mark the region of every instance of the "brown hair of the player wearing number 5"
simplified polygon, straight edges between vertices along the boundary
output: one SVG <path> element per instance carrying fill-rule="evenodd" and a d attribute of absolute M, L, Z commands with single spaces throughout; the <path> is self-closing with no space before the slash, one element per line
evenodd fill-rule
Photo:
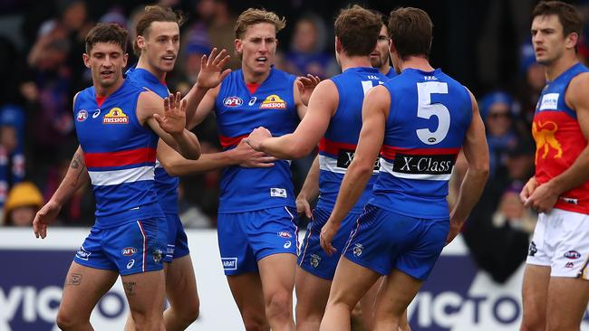
<path fill-rule="evenodd" d="M 413 7 L 397 8 L 391 12 L 387 28 L 401 59 L 411 55 L 430 58 L 433 24 L 428 13 Z"/>

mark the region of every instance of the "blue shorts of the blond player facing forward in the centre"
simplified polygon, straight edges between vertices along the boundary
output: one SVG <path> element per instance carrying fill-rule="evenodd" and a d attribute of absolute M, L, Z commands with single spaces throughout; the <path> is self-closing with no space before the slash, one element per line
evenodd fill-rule
<path fill-rule="evenodd" d="M 268 255 L 296 254 L 295 215 L 290 207 L 219 213 L 217 235 L 225 274 L 257 272 L 257 261 Z"/>

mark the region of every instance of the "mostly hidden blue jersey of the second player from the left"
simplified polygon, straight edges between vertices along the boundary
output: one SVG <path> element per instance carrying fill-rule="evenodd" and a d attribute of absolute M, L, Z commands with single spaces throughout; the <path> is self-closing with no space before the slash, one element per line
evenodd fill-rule
<path fill-rule="evenodd" d="M 141 68 L 130 68 L 127 79 L 135 85 L 152 90 L 162 99 L 169 96 L 168 86 L 159 81 L 150 71 Z M 179 178 L 168 175 L 166 170 L 156 160 L 155 188 L 158 203 L 164 213 L 178 213 L 178 185 Z"/>

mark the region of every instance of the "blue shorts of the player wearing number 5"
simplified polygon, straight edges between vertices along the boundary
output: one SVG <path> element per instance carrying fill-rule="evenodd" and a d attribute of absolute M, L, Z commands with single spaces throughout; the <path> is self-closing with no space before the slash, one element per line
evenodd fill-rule
<path fill-rule="evenodd" d="M 366 205 L 350 235 L 346 259 L 381 275 L 397 269 L 428 279 L 449 232 L 449 219 L 428 220 Z"/>

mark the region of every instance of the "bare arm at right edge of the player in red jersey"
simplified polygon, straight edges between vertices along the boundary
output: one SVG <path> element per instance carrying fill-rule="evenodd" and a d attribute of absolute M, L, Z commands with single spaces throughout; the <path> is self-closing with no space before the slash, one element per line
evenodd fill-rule
<path fill-rule="evenodd" d="M 585 140 L 589 139 L 589 74 L 576 76 L 568 86 L 565 95 L 566 104 L 575 109 L 576 118 Z M 574 144 L 574 142 L 569 142 Z M 537 186 L 534 193 L 527 199 L 526 207 L 532 206 L 538 212 L 549 212 L 558 197 L 565 192 L 589 181 L 589 145 L 577 156 L 573 165 L 560 175 L 555 176 L 545 184 Z"/>

